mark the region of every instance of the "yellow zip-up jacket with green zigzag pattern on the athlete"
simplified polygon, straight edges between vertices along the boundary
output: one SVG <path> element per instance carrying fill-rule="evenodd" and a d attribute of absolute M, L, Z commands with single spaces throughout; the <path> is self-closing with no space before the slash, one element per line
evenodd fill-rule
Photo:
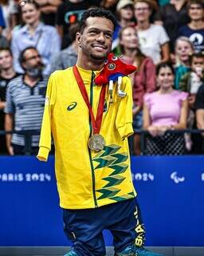
<path fill-rule="evenodd" d="M 96 118 L 102 88 L 94 84 L 98 71 L 80 67 L 78 70 Z M 47 161 L 52 133 L 62 208 L 96 208 L 135 198 L 128 150 L 128 136 L 133 133 L 132 89 L 128 77 L 123 78 L 121 89 L 127 93 L 126 97 L 119 98 L 114 86 L 112 103 L 106 90 L 100 127 L 105 146 L 104 150 L 95 152 L 88 148 L 92 124 L 73 68 L 57 70 L 49 78 L 37 158 Z"/>

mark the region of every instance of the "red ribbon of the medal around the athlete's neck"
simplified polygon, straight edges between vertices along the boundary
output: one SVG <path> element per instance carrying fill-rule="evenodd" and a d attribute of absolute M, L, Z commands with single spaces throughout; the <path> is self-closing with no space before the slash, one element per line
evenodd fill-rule
<path fill-rule="evenodd" d="M 91 122 L 92 122 L 92 130 L 93 134 L 99 134 L 100 132 L 100 126 L 103 118 L 103 112 L 104 112 L 104 100 L 105 100 L 105 91 L 106 91 L 106 86 L 102 86 L 102 89 L 100 90 L 100 98 L 99 98 L 99 105 L 97 108 L 97 114 L 96 114 L 96 119 L 94 118 L 94 114 L 92 112 L 92 106 L 88 100 L 88 94 L 86 91 L 86 88 L 84 86 L 84 82 L 80 76 L 80 72 L 77 69 L 77 66 L 73 66 L 73 74 L 77 80 L 77 84 L 80 89 L 80 93 L 82 97 L 84 98 L 84 102 L 88 106 L 89 114 L 91 117 Z"/>

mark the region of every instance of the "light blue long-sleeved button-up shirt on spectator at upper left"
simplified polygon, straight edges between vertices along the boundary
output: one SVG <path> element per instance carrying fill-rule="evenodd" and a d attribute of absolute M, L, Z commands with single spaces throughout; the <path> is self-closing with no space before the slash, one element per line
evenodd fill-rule
<path fill-rule="evenodd" d="M 34 34 L 29 34 L 28 26 L 15 30 L 11 41 L 11 50 L 14 54 L 14 70 L 24 73 L 18 58 L 26 47 L 34 46 L 41 54 L 42 62 L 45 64 L 44 74 L 49 75 L 50 63 L 53 56 L 61 49 L 61 38 L 53 26 L 39 23 Z"/>

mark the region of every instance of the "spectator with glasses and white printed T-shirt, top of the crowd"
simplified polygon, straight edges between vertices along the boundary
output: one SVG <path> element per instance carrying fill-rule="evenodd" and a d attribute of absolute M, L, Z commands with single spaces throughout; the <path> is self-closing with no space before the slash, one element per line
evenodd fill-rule
<path fill-rule="evenodd" d="M 169 38 L 163 26 L 150 23 L 153 8 L 151 0 L 135 0 L 140 49 L 143 54 L 151 57 L 155 64 L 159 64 L 170 58 Z"/>

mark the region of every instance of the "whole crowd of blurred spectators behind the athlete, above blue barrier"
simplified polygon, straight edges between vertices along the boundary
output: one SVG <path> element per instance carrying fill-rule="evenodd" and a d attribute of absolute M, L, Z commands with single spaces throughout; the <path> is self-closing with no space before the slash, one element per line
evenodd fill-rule
<path fill-rule="evenodd" d="M 138 67 L 131 74 L 141 154 L 202 154 L 204 130 L 204 0 L 0 0 L 0 154 L 25 154 L 23 132 L 37 152 L 49 74 L 77 62 L 84 10 L 102 7 L 118 21 L 112 51 Z"/>

